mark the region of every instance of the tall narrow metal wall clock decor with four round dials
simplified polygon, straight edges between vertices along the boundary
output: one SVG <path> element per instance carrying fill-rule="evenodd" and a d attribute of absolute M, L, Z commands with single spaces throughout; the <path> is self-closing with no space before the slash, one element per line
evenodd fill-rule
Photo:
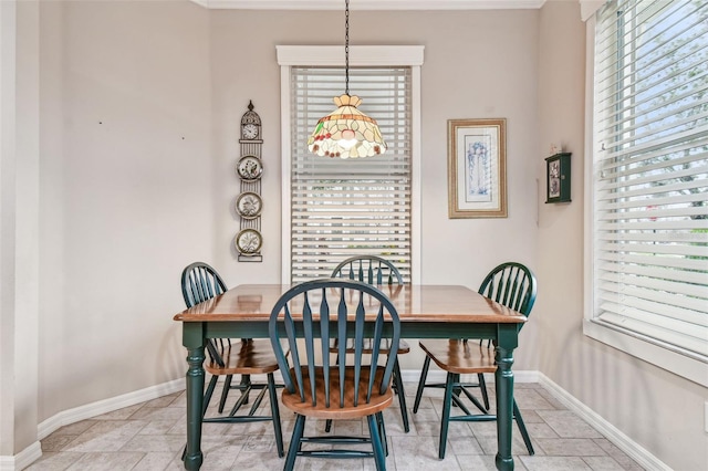
<path fill-rule="evenodd" d="M 241 117 L 241 157 L 236 165 L 236 174 L 241 179 L 241 192 L 236 198 L 236 213 L 241 219 L 240 231 L 233 239 L 239 252 L 239 262 L 262 262 L 261 247 L 261 175 L 263 163 L 261 150 L 261 118 L 253 111 L 253 102 L 249 101 L 248 112 Z"/>

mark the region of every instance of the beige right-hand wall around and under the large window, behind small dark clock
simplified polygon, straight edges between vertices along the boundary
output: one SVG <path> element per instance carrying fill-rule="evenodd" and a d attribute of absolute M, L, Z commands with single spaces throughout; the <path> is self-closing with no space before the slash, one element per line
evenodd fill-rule
<path fill-rule="evenodd" d="M 541 207 L 538 369 L 671 469 L 705 470 L 708 390 L 582 333 L 583 167 L 590 157 L 583 151 L 585 30 L 579 11 L 577 4 L 546 2 L 539 22 L 539 155 L 552 142 L 573 153 L 573 201 Z M 544 181 L 541 158 L 537 174 Z"/>

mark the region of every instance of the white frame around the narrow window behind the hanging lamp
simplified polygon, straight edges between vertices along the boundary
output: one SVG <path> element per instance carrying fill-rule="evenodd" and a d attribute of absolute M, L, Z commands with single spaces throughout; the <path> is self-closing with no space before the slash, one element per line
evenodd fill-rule
<path fill-rule="evenodd" d="M 281 116 L 281 282 L 291 280 L 291 92 L 292 66 L 344 66 L 340 45 L 277 45 L 280 65 Z M 423 45 L 350 46 L 350 66 L 409 66 L 412 100 L 412 195 L 410 195 L 410 273 L 412 283 L 420 283 L 420 66 Z"/>

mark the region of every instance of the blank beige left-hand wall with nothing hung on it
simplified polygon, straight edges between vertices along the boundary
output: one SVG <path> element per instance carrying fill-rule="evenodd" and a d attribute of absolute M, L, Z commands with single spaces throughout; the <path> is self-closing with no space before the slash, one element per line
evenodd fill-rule
<path fill-rule="evenodd" d="M 212 258 L 208 12 L 42 2 L 40 420 L 179 378 Z"/>

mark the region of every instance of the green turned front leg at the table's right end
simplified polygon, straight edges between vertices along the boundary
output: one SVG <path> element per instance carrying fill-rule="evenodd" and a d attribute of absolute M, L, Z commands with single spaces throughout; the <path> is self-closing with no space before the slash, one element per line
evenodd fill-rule
<path fill-rule="evenodd" d="M 497 386 L 497 457 L 494 462 L 498 470 L 512 471 L 513 458 L 511 457 L 511 430 L 513 426 L 513 348 L 518 342 L 516 326 L 499 326 L 499 339 L 494 359 L 497 371 L 494 380 Z"/>

